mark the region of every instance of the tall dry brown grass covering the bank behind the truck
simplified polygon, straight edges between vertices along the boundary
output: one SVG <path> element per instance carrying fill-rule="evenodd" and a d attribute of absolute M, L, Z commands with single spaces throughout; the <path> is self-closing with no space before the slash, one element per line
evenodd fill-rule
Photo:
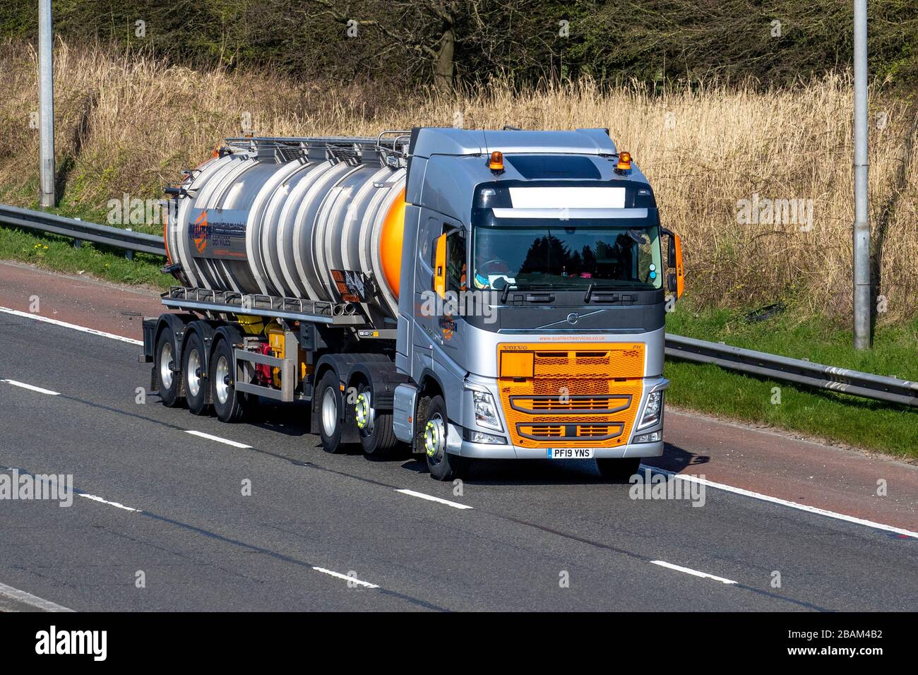
<path fill-rule="evenodd" d="M 0 46 L 0 67 L 7 85 L 0 196 L 25 205 L 37 185 L 38 136 L 28 128 L 37 100 L 34 51 Z M 298 136 L 452 125 L 456 111 L 469 128 L 608 127 L 649 175 L 666 225 L 683 235 L 697 303 L 782 299 L 828 316 L 850 312 L 852 92 L 844 76 L 768 93 L 711 86 L 650 96 L 589 82 L 514 93 L 498 83 L 445 98 L 380 84 L 167 68 L 59 43 L 56 78 L 59 163 L 72 165 L 65 203 L 77 210 L 102 211 L 125 192 L 160 196 L 181 169 L 240 133 L 243 112 L 259 133 Z M 918 129 L 915 108 L 875 93 L 871 114 L 880 111 L 887 125 L 871 129 L 871 226 L 889 309 L 880 321 L 896 321 L 918 309 L 918 165 L 906 162 L 918 151 Z M 812 231 L 739 223 L 737 200 L 754 193 L 812 199 Z"/>

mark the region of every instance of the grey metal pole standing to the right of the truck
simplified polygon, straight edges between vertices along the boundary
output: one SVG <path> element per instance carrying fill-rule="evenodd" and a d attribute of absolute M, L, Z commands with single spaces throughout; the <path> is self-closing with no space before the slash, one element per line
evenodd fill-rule
<path fill-rule="evenodd" d="M 855 0 L 855 349 L 870 348 L 870 223 L 867 204 L 867 0 Z"/>

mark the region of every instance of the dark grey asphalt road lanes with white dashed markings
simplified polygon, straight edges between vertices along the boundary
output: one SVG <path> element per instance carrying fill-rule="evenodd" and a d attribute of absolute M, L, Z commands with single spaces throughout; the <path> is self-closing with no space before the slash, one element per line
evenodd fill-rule
<path fill-rule="evenodd" d="M 0 500 L 0 582 L 73 610 L 918 605 L 913 537 L 721 489 L 633 500 L 591 462 L 488 463 L 454 494 L 409 456 L 324 453 L 303 407 L 228 425 L 138 402 L 129 343 L 0 314 L 0 344 L 0 473 L 82 493 Z"/>

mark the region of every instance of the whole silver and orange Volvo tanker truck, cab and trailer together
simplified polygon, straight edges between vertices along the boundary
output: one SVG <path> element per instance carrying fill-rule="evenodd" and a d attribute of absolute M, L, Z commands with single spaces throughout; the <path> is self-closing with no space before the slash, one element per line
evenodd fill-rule
<path fill-rule="evenodd" d="M 166 192 L 177 311 L 142 355 L 164 405 L 308 401 L 326 451 L 407 444 L 442 480 L 663 452 L 681 245 L 608 130 L 229 139 Z"/>

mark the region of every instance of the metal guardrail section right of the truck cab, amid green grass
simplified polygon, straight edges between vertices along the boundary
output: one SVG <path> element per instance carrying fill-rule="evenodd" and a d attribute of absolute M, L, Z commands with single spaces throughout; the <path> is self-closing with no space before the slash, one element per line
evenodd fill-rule
<path fill-rule="evenodd" d="M 666 335 L 666 355 L 769 379 L 918 407 L 918 382 L 896 377 L 823 366 L 788 356 L 672 334 Z"/>

